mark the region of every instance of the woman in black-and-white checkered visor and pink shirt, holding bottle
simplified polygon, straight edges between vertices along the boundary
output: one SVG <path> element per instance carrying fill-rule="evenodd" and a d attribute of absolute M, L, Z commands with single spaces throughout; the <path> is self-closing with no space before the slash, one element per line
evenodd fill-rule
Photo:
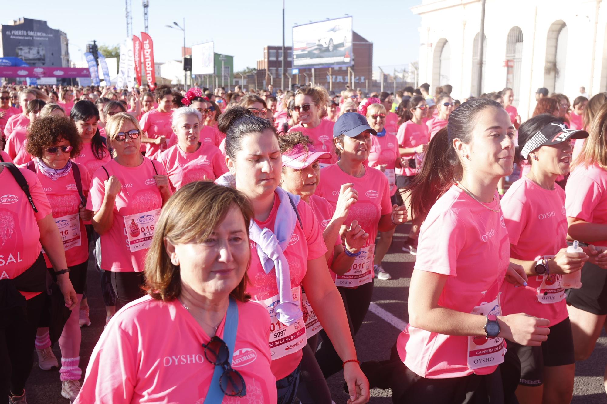
<path fill-rule="evenodd" d="M 521 362 L 521 404 L 568 404 L 573 396 L 574 345 L 563 276 L 580 271 L 588 255 L 567 252 L 565 191 L 555 181 L 569 173 L 571 138 L 585 137 L 588 132 L 568 130 L 549 114 L 534 116 L 518 129 L 517 152 L 531 170 L 510 186 L 501 207 L 510 262 L 523 266 L 528 280 L 522 288 L 504 283 L 500 301 L 503 314 L 526 312 L 550 321 L 550 336 L 541 346 L 508 342 Z"/>

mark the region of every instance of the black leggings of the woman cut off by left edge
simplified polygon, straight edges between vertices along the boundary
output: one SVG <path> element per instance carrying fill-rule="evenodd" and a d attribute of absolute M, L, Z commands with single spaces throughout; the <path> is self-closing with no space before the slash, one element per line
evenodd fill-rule
<path fill-rule="evenodd" d="M 27 301 L 27 317 L 12 315 L 2 319 L 0 330 L 0 402 L 12 392 L 20 396 L 34 363 L 34 343 L 38 322 L 47 294 L 42 292 Z"/>

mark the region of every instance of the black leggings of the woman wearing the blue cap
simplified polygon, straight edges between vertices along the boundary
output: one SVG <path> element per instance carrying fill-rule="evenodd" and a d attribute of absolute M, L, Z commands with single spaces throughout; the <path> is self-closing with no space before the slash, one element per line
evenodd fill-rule
<path fill-rule="evenodd" d="M 337 288 L 337 290 L 341 294 L 342 300 L 344 300 L 345 313 L 348 317 L 352 338 L 354 338 L 354 335 L 361 328 L 365 315 L 367 315 L 371 297 L 373 296 L 373 281 L 365 283 L 356 289 Z M 333 348 L 333 344 L 329 340 L 327 333 L 323 330 L 319 334 L 322 341 L 316 351 L 316 360 L 325 378 L 327 378 L 339 372 L 342 369 L 343 362 L 339 355 L 337 355 L 335 348 Z"/>

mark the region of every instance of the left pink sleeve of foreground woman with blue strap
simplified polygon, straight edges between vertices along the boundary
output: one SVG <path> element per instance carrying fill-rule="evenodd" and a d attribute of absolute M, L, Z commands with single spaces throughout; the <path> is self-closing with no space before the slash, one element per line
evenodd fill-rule
<path fill-rule="evenodd" d="M 109 323 L 90 355 L 84 383 L 76 403 L 130 403 L 135 384 L 137 348 L 133 335 L 121 329 L 120 322 Z"/>

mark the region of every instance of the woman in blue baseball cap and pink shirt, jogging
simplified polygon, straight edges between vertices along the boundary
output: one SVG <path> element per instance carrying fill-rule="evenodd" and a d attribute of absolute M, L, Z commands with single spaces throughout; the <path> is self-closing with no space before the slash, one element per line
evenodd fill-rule
<path fill-rule="evenodd" d="M 316 189 L 316 195 L 324 197 L 332 206 L 337 206 L 344 184 L 354 184 L 353 189 L 358 192 L 358 200 L 348 210 L 344 224 L 350 226 L 356 220 L 369 238 L 356 254 L 351 268 L 335 280 L 354 334 L 361 328 L 373 294 L 373 255 L 378 231 L 392 231 L 407 220 L 405 207 L 390 201 L 390 187 L 385 175 L 365 163 L 371 149 L 371 136 L 375 134 L 375 129 L 360 113 L 340 116 L 333 128 L 339 161 L 321 170 L 322 180 Z M 316 359 L 325 377 L 339 371 L 339 357 L 333 347 L 337 348 L 323 338 L 323 345 L 317 351 Z"/>

